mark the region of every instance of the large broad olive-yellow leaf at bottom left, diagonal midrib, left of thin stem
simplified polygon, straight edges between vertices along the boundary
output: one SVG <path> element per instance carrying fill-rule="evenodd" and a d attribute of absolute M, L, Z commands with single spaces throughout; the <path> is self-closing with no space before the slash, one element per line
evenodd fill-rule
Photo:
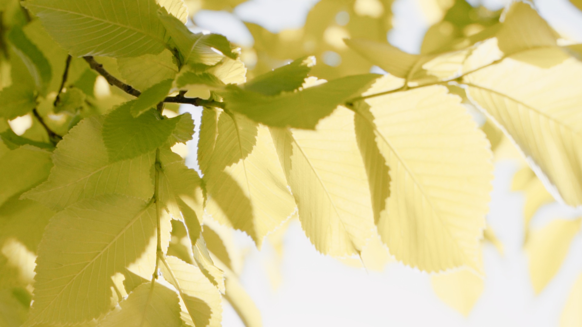
<path fill-rule="evenodd" d="M 155 243 L 155 228 L 153 202 L 122 195 L 88 198 L 56 214 L 38 246 L 31 321 L 77 324 L 105 314 L 111 276 Z"/>

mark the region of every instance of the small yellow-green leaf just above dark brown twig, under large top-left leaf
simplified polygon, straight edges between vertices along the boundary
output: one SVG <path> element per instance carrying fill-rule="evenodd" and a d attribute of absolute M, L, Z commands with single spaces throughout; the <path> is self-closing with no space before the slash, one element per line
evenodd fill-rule
<path fill-rule="evenodd" d="M 145 90 L 155 84 L 174 79 L 178 66 L 174 62 L 172 52 L 165 49 L 157 55 L 142 55 L 135 58 L 119 58 L 118 70 L 127 84 Z"/>

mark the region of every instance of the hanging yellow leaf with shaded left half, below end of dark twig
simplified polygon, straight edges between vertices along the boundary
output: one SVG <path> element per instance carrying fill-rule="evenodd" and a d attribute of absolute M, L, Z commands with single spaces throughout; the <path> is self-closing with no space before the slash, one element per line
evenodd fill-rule
<path fill-rule="evenodd" d="M 207 109 L 203 115 L 217 119 L 215 127 L 203 118 L 200 132 L 198 163 L 207 191 L 205 210 L 261 246 L 264 236 L 295 209 L 269 130 L 238 113 Z M 204 143 L 215 143 L 214 149 L 207 150 Z"/>

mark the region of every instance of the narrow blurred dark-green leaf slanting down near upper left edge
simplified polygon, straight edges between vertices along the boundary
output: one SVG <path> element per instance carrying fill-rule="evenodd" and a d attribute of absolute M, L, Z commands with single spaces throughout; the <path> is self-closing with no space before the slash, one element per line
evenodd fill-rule
<path fill-rule="evenodd" d="M 29 69 L 38 93 L 46 94 L 52 77 L 51 64 L 47 61 L 47 58 L 20 29 L 10 29 L 8 40 L 14 46 L 16 54 L 20 56 L 24 65 Z"/>

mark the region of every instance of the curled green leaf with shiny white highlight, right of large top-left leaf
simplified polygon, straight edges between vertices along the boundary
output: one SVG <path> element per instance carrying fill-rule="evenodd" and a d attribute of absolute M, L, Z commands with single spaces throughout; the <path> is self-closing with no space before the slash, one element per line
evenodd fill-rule
<path fill-rule="evenodd" d="M 171 15 L 164 15 L 164 13 L 159 13 L 159 19 L 168 30 L 169 35 L 171 35 L 172 42 L 179 51 L 182 65 L 203 64 L 214 66 L 224 56 L 236 59 L 237 55 L 232 52 L 230 42 L 223 35 L 214 33 L 194 34 L 180 20 Z"/>

